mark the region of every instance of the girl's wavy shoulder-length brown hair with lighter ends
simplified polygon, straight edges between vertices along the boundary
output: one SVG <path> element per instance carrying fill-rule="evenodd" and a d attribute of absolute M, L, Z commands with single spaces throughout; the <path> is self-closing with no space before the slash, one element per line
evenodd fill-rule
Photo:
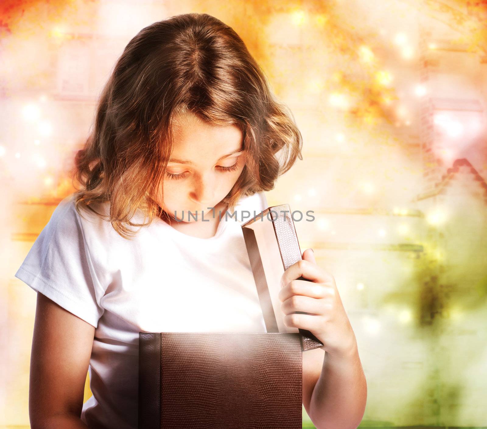
<path fill-rule="evenodd" d="M 75 156 L 78 213 L 83 205 L 102 216 L 90 205 L 109 202 L 109 220 L 127 239 L 127 224 L 150 224 L 161 210 L 156 196 L 172 149 L 171 124 L 182 112 L 243 131 L 247 162 L 224 199 L 230 211 L 241 196 L 273 189 L 302 159 L 294 117 L 243 40 L 210 15 L 176 15 L 133 37 L 103 88 L 94 128 Z M 137 209 L 148 223 L 131 222 Z"/>

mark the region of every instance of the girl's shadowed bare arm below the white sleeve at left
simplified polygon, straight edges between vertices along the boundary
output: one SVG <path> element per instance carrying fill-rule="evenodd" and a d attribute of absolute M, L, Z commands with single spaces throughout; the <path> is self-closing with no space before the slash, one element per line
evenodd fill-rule
<path fill-rule="evenodd" d="M 94 330 L 37 293 L 29 380 L 32 429 L 88 429 L 80 417 Z"/>

